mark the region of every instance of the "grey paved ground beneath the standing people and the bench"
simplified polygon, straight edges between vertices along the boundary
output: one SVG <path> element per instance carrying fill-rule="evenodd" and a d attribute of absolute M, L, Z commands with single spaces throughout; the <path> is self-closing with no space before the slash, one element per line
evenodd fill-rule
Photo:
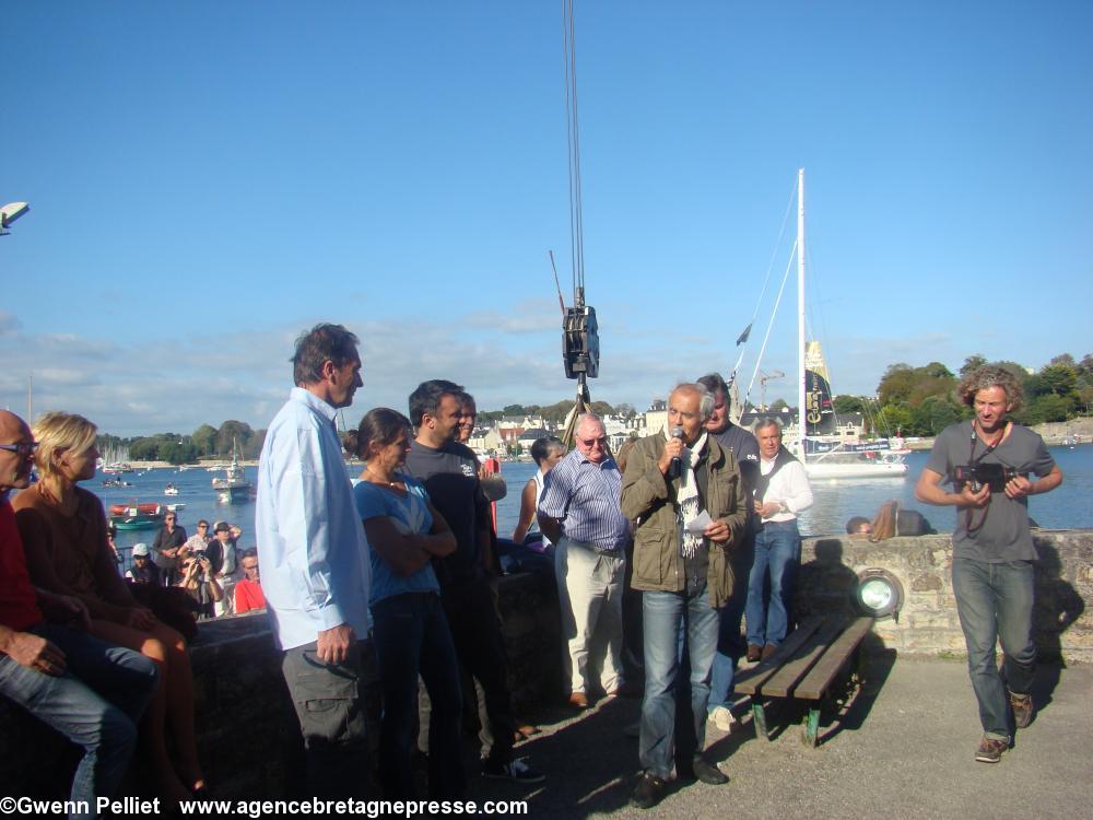
<path fill-rule="evenodd" d="M 636 700 L 602 702 L 574 717 L 539 715 L 542 735 L 519 747 L 549 773 L 539 787 L 472 780 L 475 800 L 519 799 L 531 818 L 1089 818 L 1093 817 L 1093 667 L 1042 667 L 1037 714 L 1001 763 L 976 763 L 979 724 L 962 661 L 875 656 L 866 687 L 821 745 L 788 726 L 759 739 L 745 715 L 730 735 L 710 726 L 707 745 L 731 781 L 675 788 L 658 807 L 628 806 L 637 741 L 623 728 Z M 772 726 L 777 724 L 769 714 Z"/>

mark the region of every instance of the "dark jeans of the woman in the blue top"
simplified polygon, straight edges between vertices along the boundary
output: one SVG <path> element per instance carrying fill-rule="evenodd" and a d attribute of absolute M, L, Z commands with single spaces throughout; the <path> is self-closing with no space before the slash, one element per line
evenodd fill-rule
<path fill-rule="evenodd" d="M 384 716 L 379 728 L 379 782 L 384 797 L 413 797 L 411 752 L 418 711 L 418 676 L 428 691 L 428 795 L 459 799 L 463 775 L 459 661 L 448 619 L 436 593 L 404 593 L 372 607 Z"/>

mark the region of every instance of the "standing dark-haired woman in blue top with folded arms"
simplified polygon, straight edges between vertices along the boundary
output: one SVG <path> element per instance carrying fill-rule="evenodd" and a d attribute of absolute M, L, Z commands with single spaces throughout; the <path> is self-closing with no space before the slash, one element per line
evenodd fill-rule
<path fill-rule="evenodd" d="M 418 676 L 432 700 L 428 793 L 459 799 L 466 789 L 460 728 L 459 663 L 440 606 L 433 557 L 449 555 L 456 539 L 430 503 L 425 488 L 399 470 L 410 452 L 410 420 L 376 408 L 345 436 L 364 460 L 353 489 L 372 555 L 369 601 L 384 695 L 379 782 L 387 799 L 412 797 L 411 750 Z"/>

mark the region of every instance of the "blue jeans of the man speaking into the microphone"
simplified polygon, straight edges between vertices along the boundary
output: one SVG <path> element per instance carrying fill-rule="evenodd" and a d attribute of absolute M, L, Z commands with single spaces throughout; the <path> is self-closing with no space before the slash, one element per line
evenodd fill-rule
<path fill-rule="evenodd" d="M 642 596 L 645 631 L 645 698 L 642 701 L 642 766 L 667 777 L 675 753 L 675 677 L 680 643 L 686 631 L 691 659 L 691 713 L 696 749 L 706 739 L 706 702 L 717 651 L 717 610 L 709 604 L 706 585 L 691 594 L 646 591 Z"/>

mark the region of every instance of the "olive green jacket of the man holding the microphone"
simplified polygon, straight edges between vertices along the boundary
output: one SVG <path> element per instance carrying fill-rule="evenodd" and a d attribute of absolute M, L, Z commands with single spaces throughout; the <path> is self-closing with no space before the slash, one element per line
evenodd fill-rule
<path fill-rule="evenodd" d="M 656 433 L 642 438 L 631 449 L 622 480 L 622 512 L 631 520 L 637 520 L 634 589 L 679 593 L 686 584 L 675 506 L 680 480 L 668 481 L 657 465 L 665 444 L 663 434 Z M 706 576 L 709 601 L 720 607 L 732 594 L 732 566 L 728 553 L 743 540 L 747 497 L 736 456 L 712 435 L 706 437 L 705 462 L 709 465 L 709 480 L 703 500 L 705 509 L 710 518 L 724 520 L 732 535 L 726 543 L 706 541 L 709 548 L 709 572 Z"/>

